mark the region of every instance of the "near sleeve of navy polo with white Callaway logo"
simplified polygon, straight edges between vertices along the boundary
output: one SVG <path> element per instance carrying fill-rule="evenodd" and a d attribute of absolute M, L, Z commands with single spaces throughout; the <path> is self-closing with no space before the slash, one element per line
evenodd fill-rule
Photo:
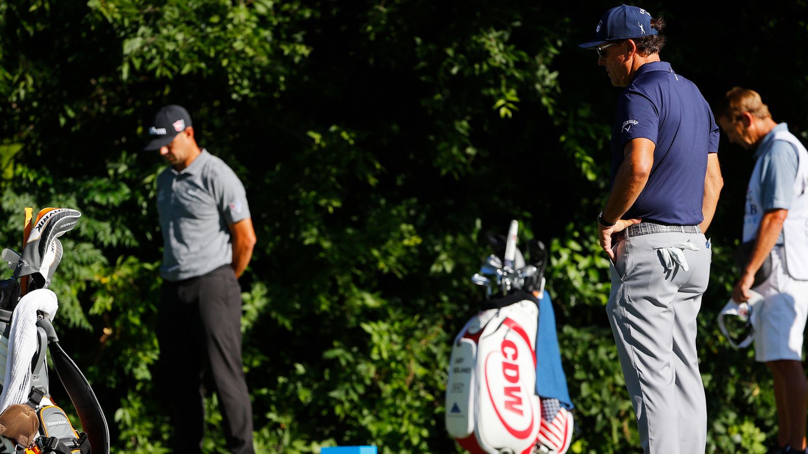
<path fill-rule="evenodd" d="M 654 103 L 636 90 L 625 90 L 617 102 L 617 127 L 620 129 L 620 148 L 626 142 L 645 138 L 654 144 L 659 134 L 659 111 Z"/>

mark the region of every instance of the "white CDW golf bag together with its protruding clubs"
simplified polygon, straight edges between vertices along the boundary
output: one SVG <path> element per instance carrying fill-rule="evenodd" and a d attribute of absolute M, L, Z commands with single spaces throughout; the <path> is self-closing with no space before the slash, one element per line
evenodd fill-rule
<path fill-rule="evenodd" d="M 490 255 L 473 275 L 487 299 L 455 338 L 449 359 L 446 429 L 472 454 L 532 453 L 541 427 L 534 351 L 539 309 L 531 292 L 544 291 L 546 254 L 526 265 L 516 249 L 517 225 L 511 221 L 504 253 Z M 541 242 L 536 246 L 545 252 Z"/>

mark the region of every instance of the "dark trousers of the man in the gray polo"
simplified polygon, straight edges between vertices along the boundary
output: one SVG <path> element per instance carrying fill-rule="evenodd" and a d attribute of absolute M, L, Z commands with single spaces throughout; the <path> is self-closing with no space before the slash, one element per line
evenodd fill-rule
<path fill-rule="evenodd" d="M 171 407 L 174 452 L 202 452 L 204 382 L 209 373 L 219 397 L 227 448 L 252 454 L 252 408 L 242 367 L 242 297 L 233 268 L 165 281 L 157 335 L 163 389 Z"/>

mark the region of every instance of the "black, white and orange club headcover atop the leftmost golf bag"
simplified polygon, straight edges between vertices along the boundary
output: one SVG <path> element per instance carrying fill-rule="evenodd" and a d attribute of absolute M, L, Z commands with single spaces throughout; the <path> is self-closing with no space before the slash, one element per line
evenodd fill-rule
<path fill-rule="evenodd" d="M 40 211 L 23 248 L 14 278 L 29 276 L 27 291 L 47 288 L 61 262 L 61 242 L 57 238 L 72 230 L 81 212 L 70 208 Z"/>

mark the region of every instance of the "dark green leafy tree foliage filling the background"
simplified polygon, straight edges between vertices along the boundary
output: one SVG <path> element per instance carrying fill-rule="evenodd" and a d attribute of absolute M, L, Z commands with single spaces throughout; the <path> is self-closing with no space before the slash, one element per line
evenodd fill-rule
<path fill-rule="evenodd" d="M 259 244 L 242 325 L 259 452 L 458 452 L 443 427 L 449 343 L 482 297 L 468 281 L 490 253 L 482 233 L 512 218 L 523 240 L 552 246 L 578 409 L 572 452 L 633 452 L 594 240 L 619 90 L 576 46 L 609 6 L 0 2 L 0 238 L 19 248 L 26 206 L 82 211 L 53 283 L 57 329 L 95 385 L 115 452 L 167 452 L 159 385 L 182 385 L 154 374 L 164 164 L 141 151 L 166 103 L 191 111 L 200 145 L 250 198 Z M 666 16 L 663 58 L 709 102 L 755 88 L 776 120 L 808 131 L 808 68 L 784 45 L 808 37 L 806 2 L 643 6 Z M 723 143 L 698 341 L 708 447 L 764 452 L 776 430 L 771 378 L 714 323 L 751 170 Z M 223 452 L 215 397 L 206 405 L 206 448 Z"/>

